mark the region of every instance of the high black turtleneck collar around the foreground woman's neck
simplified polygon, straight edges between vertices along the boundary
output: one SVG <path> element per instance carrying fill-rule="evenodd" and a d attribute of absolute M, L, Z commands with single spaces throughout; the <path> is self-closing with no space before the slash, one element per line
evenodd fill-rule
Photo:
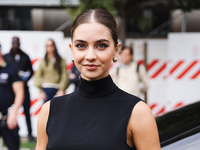
<path fill-rule="evenodd" d="M 85 97 L 100 97 L 108 95 L 116 89 L 117 86 L 109 75 L 103 79 L 95 81 L 87 81 L 81 78 L 78 93 Z"/>

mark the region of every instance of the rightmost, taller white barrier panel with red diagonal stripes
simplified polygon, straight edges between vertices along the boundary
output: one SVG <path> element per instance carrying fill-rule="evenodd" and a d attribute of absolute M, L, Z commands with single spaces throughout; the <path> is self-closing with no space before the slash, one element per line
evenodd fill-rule
<path fill-rule="evenodd" d="M 200 100 L 200 34 L 169 34 L 167 103 Z"/>

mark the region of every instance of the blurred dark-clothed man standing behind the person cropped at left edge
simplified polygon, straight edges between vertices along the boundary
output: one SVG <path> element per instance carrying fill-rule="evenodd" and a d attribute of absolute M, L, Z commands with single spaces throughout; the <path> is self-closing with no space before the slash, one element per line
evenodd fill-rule
<path fill-rule="evenodd" d="M 12 38 L 12 48 L 8 54 L 5 55 L 5 60 L 8 63 L 16 65 L 18 67 L 18 74 L 24 82 L 24 113 L 26 116 L 26 124 L 28 129 L 28 138 L 30 141 L 34 141 L 32 136 L 32 126 L 30 119 L 30 93 L 29 87 L 27 85 L 29 79 L 33 76 L 33 69 L 29 56 L 20 49 L 20 39 L 19 37 Z"/>

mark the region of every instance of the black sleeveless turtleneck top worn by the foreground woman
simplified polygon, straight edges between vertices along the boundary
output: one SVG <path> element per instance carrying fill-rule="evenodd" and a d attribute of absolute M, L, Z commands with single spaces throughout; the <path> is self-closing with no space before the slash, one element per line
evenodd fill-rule
<path fill-rule="evenodd" d="M 127 125 L 140 99 L 120 90 L 111 77 L 86 81 L 50 102 L 47 150 L 130 150 Z"/>

